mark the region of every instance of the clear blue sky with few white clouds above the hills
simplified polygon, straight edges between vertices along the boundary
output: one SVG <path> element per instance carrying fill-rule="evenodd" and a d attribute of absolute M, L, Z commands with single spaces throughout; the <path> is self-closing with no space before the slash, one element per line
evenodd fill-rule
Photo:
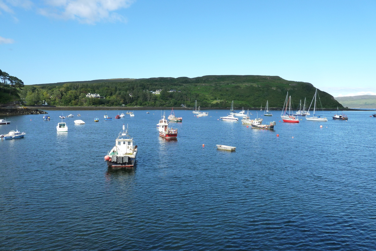
<path fill-rule="evenodd" d="M 0 0 L 0 69 L 26 85 L 271 75 L 376 95 L 374 0 Z"/>

